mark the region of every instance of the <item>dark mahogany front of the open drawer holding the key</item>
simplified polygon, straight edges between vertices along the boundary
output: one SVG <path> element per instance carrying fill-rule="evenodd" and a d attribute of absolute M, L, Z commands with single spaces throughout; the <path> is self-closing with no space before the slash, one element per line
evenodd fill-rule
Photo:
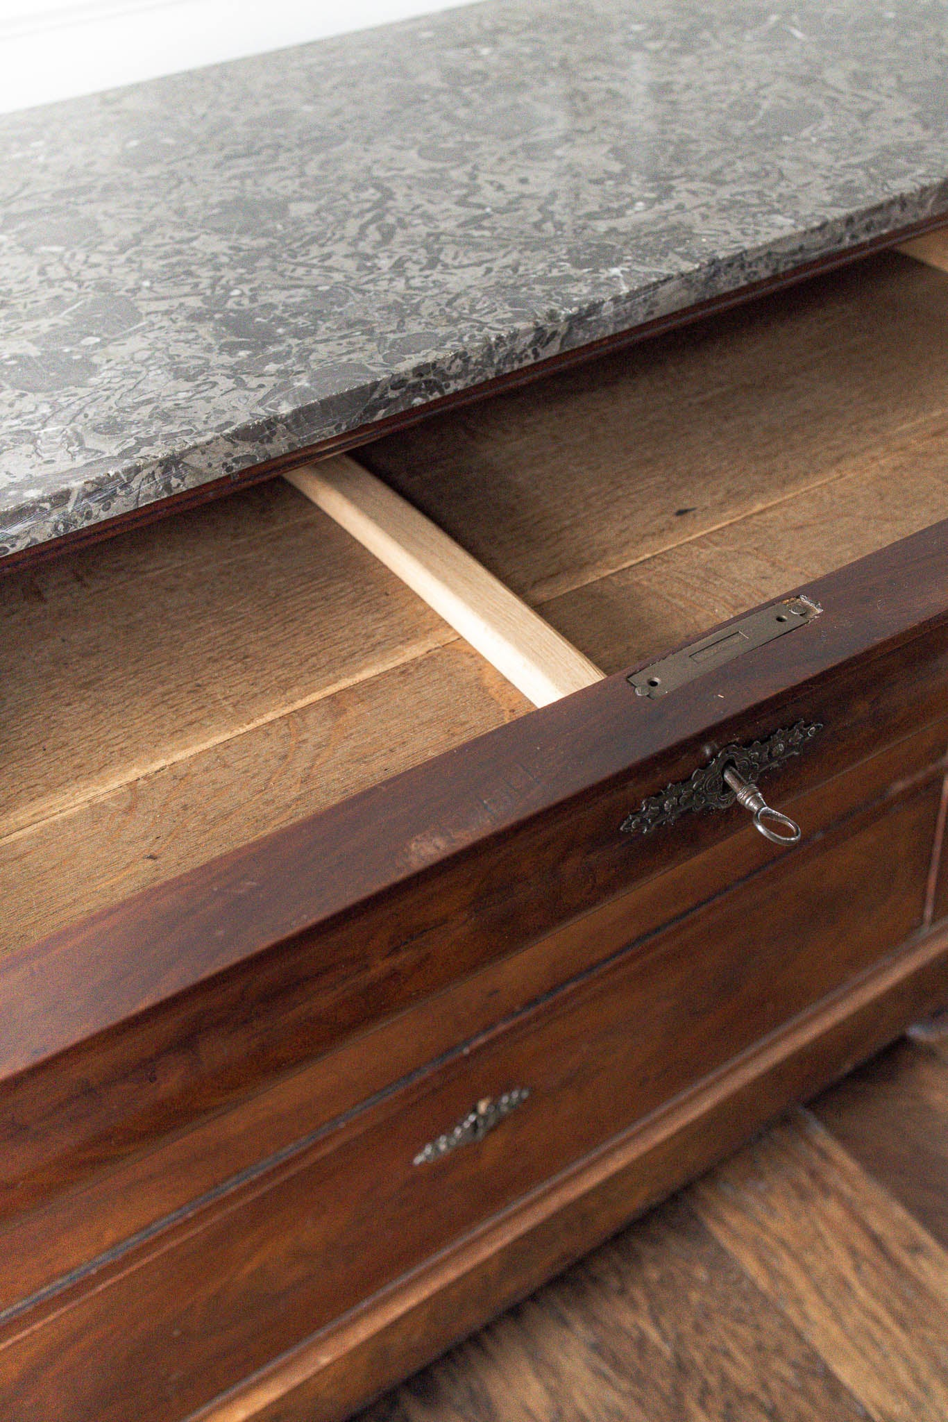
<path fill-rule="evenodd" d="M 816 594 L 827 599 L 822 584 Z M 863 604 L 878 602 L 871 580 L 861 597 Z M 41 1065 L 9 1069 L 0 1086 L 3 1119 L 28 1121 L 31 1129 L 4 1132 L 0 1119 L 0 1214 L 114 1165 L 165 1130 L 236 1105 L 281 1072 L 709 849 L 721 862 L 733 850 L 738 866 L 762 846 L 765 855 L 783 853 L 758 845 L 735 808 L 691 815 L 674 836 L 637 843 L 618 825 L 645 795 L 702 764 L 709 732 L 675 738 L 702 718 L 711 721 L 715 708 L 723 715 L 713 728 L 719 745 L 766 737 L 797 720 L 823 722 L 817 742 L 765 781 L 787 808 L 867 752 L 944 717 L 948 621 L 878 657 L 856 658 L 817 684 L 807 675 L 829 654 L 813 641 L 809 660 L 782 667 L 777 677 L 804 685 L 782 693 L 776 704 L 773 695 L 762 697 L 752 714 L 731 714 L 766 685 L 759 665 L 750 675 L 755 658 L 810 631 L 816 637 L 817 629 L 824 637 L 829 620 L 827 610 L 793 637 L 738 658 L 728 680 L 709 680 L 701 695 L 695 684 L 696 711 L 686 697 L 678 702 L 679 694 L 645 701 L 644 711 L 645 698 L 624 678 L 610 678 L 470 742 L 448 762 L 387 782 L 378 795 L 345 802 L 320 818 L 316 835 L 310 825 L 294 826 L 249 846 L 233 865 L 220 862 L 193 882 L 165 886 L 146 906 L 129 900 L 75 939 L 50 940 L 48 951 L 40 946 L 34 956 L 0 963 L 0 1007 L 16 1004 L 6 1017 L 0 1012 L 0 1022 L 7 1021 L 9 1047 L 21 1055 L 30 1041 L 51 1049 L 60 1027 L 85 1031 L 102 1004 L 131 1014 Z M 847 623 L 839 640 L 850 636 Z M 547 718 L 561 722 L 553 738 L 542 734 Z M 674 741 L 674 749 L 635 764 L 652 735 L 655 744 Z M 431 799 L 416 793 L 422 782 Z M 537 799 L 566 785 L 570 793 L 560 803 L 537 811 Z M 495 833 L 495 823 L 515 809 L 523 812 L 519 823 Z M 806 830 L 823 826 L 823 815 L 817 808 Z M 749 855 L 740 848 L 748 843 Z M 452 853 L 455 846 L 463 852 Z M 426 865 L 429 852 L 441 849 L 443 862 Z M 347 896 L 362 892 L 381 860 L 401 866 L 398 883 L 345 909 Z M 684 886 L 679 912 L 704 892 Z M 301 897 L 316 897 L 324 909 L 311 930 L 270 943 L 229 971 L 210 970 L 208 954 L 219 944 L 230 951 L 249 941 L 263 931 L 262 919 L 284 920 Z M 178 991 L 179 973 L 202 963 L 209 975 Z M 145 1012 L 152 971 L 166 998 Z"/>

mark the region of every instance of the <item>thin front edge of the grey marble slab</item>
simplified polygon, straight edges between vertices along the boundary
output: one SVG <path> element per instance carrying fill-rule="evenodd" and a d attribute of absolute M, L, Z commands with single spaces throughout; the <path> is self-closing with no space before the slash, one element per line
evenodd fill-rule
<path fill-rule="evenodd" d="M 941 215 L 948 218 L 948 178 L 861 210 L 824 218 L 777 240 L 713 256 L 689 272 L 672 273 L 632 292 L 566 310 L 549 321 L 499 331 L 476 347 L 426 353 L 422 360 L 394 367 L 387 377 L 280 415 L 217 429 L 203 441 L 156 459 L 111 464 L 95 475 L 84 475 L 80 469 L 71 481 L 64 478 L 61 491 L 41 512 L 36 502 L 4 512 L 0 519 L 0 563 L 14 553 L 119 519 L 220 478 L 229 476 L 237 486 L 242 474 L 271 459 L 340 435 L 368 431 L 387 417 L 419 410 L 445 395 L 476 390 L 560 353 L 631 334 L 648 321 L 738 293 L 762 280 L 789 276 L 810 262 L 908 232 Z M 348 414 L 340 415 L 338 407 Z M 246 448 L 236 448 L 239 445 Z"/>

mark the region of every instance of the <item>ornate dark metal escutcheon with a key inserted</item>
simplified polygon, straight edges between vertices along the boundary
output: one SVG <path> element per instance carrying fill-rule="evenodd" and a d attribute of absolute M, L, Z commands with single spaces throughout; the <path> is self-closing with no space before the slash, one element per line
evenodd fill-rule
<path fill-rule="evenodd" d="M 799 755 L 823 729 L 819 721 L 797 721 L 749 745 L 725 745 L 708 765 L 699 766 L 686 781 L 667 785 L 650 795 L 623 820 L 624 835 L 651 835 L 662 825 L 674 825 L 682 815 L 701 809 L 728 809 L 735 802 L 753 815 L 755 828 L 776 845 L 796 845 L 800 826 L 780 811 L 772 809 L 758 789 L 759 775 Z"/>

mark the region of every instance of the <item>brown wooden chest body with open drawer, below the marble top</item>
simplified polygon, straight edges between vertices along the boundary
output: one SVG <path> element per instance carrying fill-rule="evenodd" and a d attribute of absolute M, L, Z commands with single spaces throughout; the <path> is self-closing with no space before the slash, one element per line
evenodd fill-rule
<path fill-rule="evenodd" d="M 526 691 L 284 482 L 0 583 L 11 1415 L 343 1416 L 948 995 L 947 328 L 873 257 L 362 449 Z"/>

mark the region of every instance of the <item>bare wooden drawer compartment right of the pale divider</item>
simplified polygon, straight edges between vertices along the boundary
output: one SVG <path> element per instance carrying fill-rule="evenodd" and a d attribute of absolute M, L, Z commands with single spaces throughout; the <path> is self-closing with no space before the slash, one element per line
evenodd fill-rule
<path fill-rule="evenodd" d="M 947 331 L 887 253 L 360 458 L 621 671 L 948 516 Z"/>

